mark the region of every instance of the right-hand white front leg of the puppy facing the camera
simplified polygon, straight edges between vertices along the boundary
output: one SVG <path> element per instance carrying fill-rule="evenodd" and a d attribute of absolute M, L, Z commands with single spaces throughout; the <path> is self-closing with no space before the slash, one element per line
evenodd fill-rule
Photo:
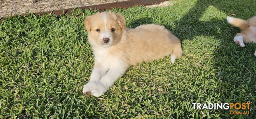
<path fill-rule="evenodd" d="M 124 65 L 111 66 L 107 74 L 102 76 L 98 82 L 92 82 L 90 87 L 90 92 L 92 95 L 95 97 L 102 96 L 102 94 L 104 94 L 108 88 L 113 85 L 114 81 L 122 76 L 127 69 L 128 66 Z"/>

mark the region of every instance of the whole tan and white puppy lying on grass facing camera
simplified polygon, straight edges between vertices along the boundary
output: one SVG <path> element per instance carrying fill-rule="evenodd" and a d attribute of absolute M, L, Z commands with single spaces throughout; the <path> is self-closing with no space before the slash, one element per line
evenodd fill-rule
<path fill-rule="evenodd" d="M 131 65 L 170 55 L 171 62 L 181 57 L 180 40 L 162 25 L 125 27 L 124 16 L 98 12 L 84 20 L 88 41 L 94 54 L 94 69 L 83 93 L 99 97 Z"/>

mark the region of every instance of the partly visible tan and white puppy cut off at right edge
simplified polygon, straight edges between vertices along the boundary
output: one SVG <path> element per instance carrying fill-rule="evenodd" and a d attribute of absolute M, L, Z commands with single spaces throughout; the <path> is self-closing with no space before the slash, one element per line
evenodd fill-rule
<path fill-rule="evenodd" d="M 227 21 L 231 25 L 241 29 L 241 32 L 237 33 L 234 37 L 236 44 L 244 47 L 244 43 L 256 43 L 256 16 L 248 20 L 227 17 Z M 256 56 L 256 51 L 254 55 Z"/>

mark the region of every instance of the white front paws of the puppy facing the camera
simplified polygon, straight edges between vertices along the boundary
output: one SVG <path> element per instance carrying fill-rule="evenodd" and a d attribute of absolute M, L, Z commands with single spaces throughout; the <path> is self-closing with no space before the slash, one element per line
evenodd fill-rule
<path fill-rule="evenodd" d="M 100 82 L 88 82 L 88 84 L 84 85 L 83 93 L 91 92 L 93 96 L 100 97 L 102 96 L 108 89 L 103 86 Z"/>

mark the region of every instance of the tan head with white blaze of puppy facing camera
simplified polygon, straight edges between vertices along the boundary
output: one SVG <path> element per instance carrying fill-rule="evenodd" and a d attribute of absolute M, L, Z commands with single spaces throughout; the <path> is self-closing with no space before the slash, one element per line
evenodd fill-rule
<path fill-rule="evenodd" d="M 90 42 L 102 47 L 110 47 L 118 43 L 125 29 L 124 16 L 114 12 L 98 12 L 86 17 L 84 27 Z"/>

